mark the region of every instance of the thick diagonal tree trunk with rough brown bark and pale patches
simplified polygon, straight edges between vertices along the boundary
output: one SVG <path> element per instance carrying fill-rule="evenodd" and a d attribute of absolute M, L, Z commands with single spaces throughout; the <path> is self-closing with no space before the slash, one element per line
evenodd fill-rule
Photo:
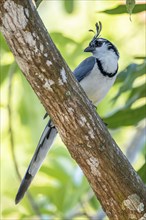
<path fill-rule="evenodd" d="M 144 220 L 143 182 L 72 76 L 31 0 L 1 0 L 0 13 L 3 35 L 20 69 L 108 217 Z"/>

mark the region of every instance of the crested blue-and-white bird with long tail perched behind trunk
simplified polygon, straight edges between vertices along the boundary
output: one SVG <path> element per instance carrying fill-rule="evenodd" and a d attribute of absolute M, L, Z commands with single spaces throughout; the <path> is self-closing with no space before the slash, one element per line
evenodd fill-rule
<path fill-rule="evenodd" d="M 114 84 L 118 72 L 119 52 L 116 46 L 105 38 L 99 36 L 102 30 L 102 23 L 95 24 L 96 33 L 84 52 L 92 53 L 83 60 L 73 71 L 74 77 L 80 83 L 87 97 L 97 106 L 105 97 Z M 48 115 L 46 113 L 45 117 Z M 15 204 L 24 197 L 36 173 L 40 169 L 50 147 L 57 136 L 57 129 L 50 119 L 42 133 L 32 160 L 20 184 L 15 198 Z"/>

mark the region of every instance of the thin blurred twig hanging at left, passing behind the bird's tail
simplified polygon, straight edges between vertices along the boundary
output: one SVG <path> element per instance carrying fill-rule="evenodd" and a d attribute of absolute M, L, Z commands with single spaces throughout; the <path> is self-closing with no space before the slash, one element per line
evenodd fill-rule
<path fill-rule="evenodd" d="M 15 149 L 14 149 L 15 144 L 14 144 L 14 135 L 13 135 L 13 126 L 12 126 L 12 81 L 13 81 L 15 70 L 16 70 L 16 63 L 14 62 L 9 69 L 8 105 L 7 105 L 7 108 L 8 108 L 8 129 L 9 129 L 9 135 L 10 135 L 12 161 L 14 163 L 14 168 L 15 168 L 17 177 L 18 177 L 19 181 L 21 182 L 22 178 L 21 178 L 21 175 L 19 172 L 18 163 L 17 163 L 16 156 L 15 156 Z M 37 204 L 35 203 L 32 195 L 29 192 L 27 193 L 27 197 L 28 197 L 28 200 L 29 200 L 34 212 L 41 219 L 41 213 L 39 211 L 39 208 L 38 208 Z"/>

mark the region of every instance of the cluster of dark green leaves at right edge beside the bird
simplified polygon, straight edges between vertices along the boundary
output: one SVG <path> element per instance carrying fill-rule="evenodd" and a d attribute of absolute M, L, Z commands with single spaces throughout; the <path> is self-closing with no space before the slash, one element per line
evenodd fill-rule
<path fill-rule="evenodd" d="M 132 108 L 132 106 L 146 95 L 146 86 L 144 81 L 144 74 L 146 70 L 146 62 L 142 64 L 132 63 L 125 70 L 119 73 L 116 83 L 120 84 L 119 91 L 113 98 L 113 102 L 123 95 L 128 93 L 125 104 L 118 108 L 116 112 L 111 113 L 110 116 L 105 118 L 110 128 L 118 128 L 121 126 L 137 125 L 145 118 L 146 104 L 145 101 L 142 105 Z M 135 81 L 142 77 L 142 84 L 134 87 Z M 124 83 L 123 83 L 124 81 Z"/>

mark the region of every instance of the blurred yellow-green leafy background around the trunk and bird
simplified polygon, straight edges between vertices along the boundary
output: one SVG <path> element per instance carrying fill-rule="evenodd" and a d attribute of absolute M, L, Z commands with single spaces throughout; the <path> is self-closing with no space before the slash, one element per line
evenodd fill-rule
<path fill-rule="evenodd" d="M 145 4 L 132 22 L 123 1 L 42 1 L 38 7 L 48 32 L 73 70 L 89 54 L 88 32 L 101 21 L 101 36 L 119 49 L 119 75 L 98 106 L 119 147 L 146 182 Z M 34 179 L 30 194 L 14 199 L 41 132 L 45 110 L 15 63 L 2 34 L 1 45 L 1 219 L 107 219 L 82 171 L 58 137 Z M 18 168 L 19 171 L 16 170 Z M 108 168 L 107 168 L 108 169 Z"/>

